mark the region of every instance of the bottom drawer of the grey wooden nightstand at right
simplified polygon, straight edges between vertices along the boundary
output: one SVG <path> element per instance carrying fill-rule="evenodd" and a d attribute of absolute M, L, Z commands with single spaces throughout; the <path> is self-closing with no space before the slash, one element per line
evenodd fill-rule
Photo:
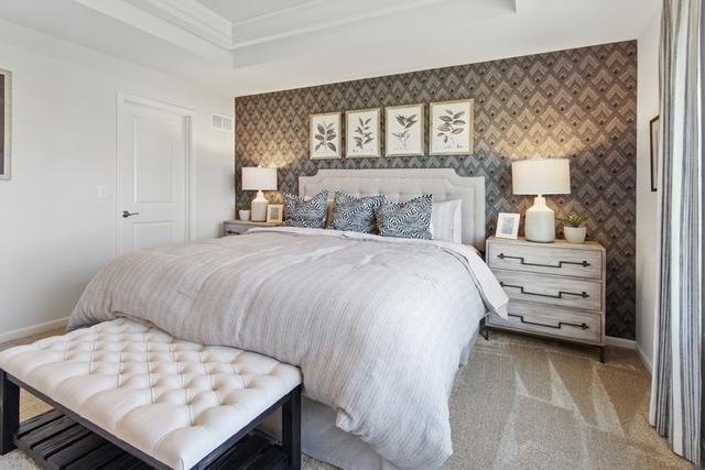
<path fill-rule="evenodd" d="M 509 319 L 491 314 L 487 324 L 573 341 L 603 343 L 603 317 L 587 311 L 510 300 Z"/>

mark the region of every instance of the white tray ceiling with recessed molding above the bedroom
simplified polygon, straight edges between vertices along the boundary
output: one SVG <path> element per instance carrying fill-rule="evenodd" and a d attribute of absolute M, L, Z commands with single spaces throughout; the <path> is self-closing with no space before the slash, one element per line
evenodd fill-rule
<path fill-rule="evenodd" d="M 632 40 L 659 3 L 0 0 L 0 19 L 240 96 Z"/>

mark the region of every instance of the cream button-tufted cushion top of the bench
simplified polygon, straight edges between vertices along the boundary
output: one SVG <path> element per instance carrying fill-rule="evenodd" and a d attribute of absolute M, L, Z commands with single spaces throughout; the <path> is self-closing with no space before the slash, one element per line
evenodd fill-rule
<path fill-rule="evenodd" d="M 301 383 L 297 368 L 117 319 L 0 352 L 0 369 L 188 469 Z"/>

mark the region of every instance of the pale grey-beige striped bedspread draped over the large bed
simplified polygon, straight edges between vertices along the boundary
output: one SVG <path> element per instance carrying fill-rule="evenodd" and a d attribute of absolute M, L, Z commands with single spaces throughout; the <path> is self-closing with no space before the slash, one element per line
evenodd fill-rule
<path fill-rule="evenodd" d="M 452 453 L 463 348 L 507 302 L 470 247 L 281 228 L 117 258 L 69 328 L 124 316 L 299 365 L 339 428 L 399 467 L 427 469 Z"/>

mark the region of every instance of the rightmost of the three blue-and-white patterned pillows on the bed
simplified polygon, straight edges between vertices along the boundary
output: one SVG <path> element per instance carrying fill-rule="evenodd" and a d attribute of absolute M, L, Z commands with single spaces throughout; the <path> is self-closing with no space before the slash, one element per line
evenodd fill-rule
<path fill-rule="evenodd" d="M 379 234 L 431 240 L 432 208 L 430 194 L 406 203 L 387 203 L 375 211 Z"/>

